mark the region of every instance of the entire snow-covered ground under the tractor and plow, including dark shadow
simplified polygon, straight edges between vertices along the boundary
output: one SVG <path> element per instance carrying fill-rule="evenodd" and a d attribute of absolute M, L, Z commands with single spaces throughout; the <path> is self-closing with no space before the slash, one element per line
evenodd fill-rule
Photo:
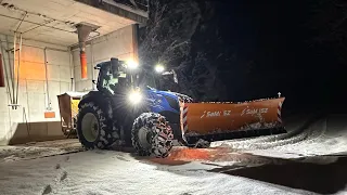
<path fill-rule="evenodd" d="M 286 134 L 176 147 L 166 159 L 70 154 L 82 151 L 76 140 L 0 147 L 0 194 L 347 194 L 347 158 L 336 157 L 347 152 L 347 117 L 300 118 Z"/>

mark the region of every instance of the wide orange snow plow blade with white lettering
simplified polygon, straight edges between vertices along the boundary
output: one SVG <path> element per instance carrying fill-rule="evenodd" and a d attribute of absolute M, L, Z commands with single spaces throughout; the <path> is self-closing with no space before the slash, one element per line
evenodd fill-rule
<path fill-rule="evenodd" d="M 243 103 L 185 103 L 181 129 L 189 144 L 285 133 L 281 110 L 285 98 Z"/>

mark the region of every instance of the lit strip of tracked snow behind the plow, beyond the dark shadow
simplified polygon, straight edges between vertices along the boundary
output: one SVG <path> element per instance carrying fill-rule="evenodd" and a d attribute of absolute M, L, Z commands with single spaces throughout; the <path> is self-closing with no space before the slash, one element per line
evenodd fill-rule
<path fill-rule="evenodd" d="M 211 146 L 282 158 L 347 154 L 346 116 L 332 115 L 308 127 L 303 127 L 303 119 L 287 122 L 288 133 L 285 134 L 220 141 L 211 143 Z"/>

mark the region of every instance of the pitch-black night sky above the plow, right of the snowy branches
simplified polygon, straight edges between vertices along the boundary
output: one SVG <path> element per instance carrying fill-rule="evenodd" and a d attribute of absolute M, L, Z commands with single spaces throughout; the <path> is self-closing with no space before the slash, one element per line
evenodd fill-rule
<path fill-rule="evenodd" d="M 220 101 L 273 98 L 281 92 L 290 112 L 345 106 L 344 1 L 195 2 L 202 18 L 191 37 L 190 57 L 203 52 L 206 63 L 217 67 L 224 84 L 222 92 L 216 92 L 223 94 Z M 179 66 L 183 61 L 171 64 Z M 191 64 L 196 66 L 196 60 Z"/>

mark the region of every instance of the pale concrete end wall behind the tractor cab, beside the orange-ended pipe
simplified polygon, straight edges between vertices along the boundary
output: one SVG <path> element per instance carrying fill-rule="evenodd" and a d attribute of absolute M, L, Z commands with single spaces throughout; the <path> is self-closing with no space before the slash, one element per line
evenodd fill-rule
<path fill-rule="evenodd" d="M 79 49 L 73 50 L 76 91 L 89 91 L 92 89 L 92 79 L 94 78 L 97 80 L 98 78 L 98 70 L 94 70 L 93 67 L 98 63 L 110 61 L 111 57 L 118 57 L 123 61 L 137 58 L 133 28 L 134 27 L 130 25 L 90 41 L 86 50 L 88 79 L 81 79 L 80 76 Z"/>

